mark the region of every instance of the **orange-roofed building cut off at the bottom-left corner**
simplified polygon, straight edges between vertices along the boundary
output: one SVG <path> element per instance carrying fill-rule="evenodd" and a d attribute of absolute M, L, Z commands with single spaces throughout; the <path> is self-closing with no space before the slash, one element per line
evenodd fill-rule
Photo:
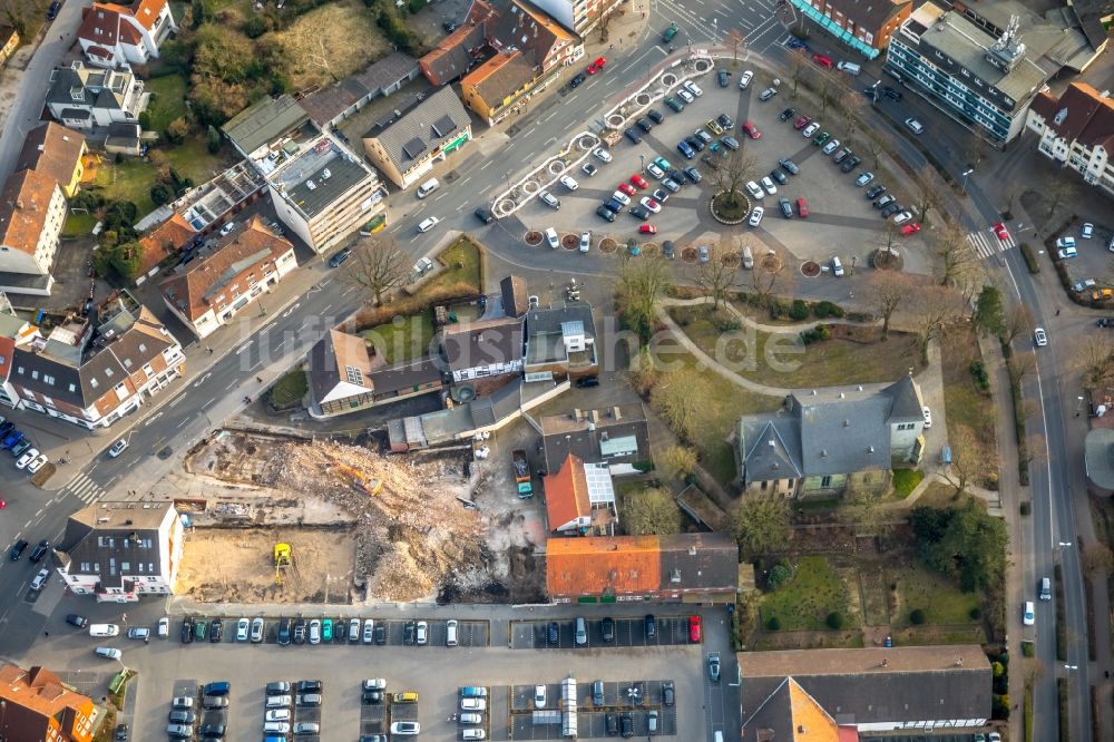
<path fill-rule="evenodd" d="M 88 742 L 104 714 L 41 666 L 0 666 L 0 739 L 12 742 Z"/>

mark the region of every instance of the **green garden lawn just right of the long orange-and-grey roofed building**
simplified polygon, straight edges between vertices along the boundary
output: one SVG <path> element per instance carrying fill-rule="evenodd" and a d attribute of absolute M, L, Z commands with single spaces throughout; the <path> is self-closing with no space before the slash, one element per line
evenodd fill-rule
<path fill-rule="evenodd" d="M 847 585 L 821 556 L 801 557 L 789 585 L 762 597 L 762 625 L 773 616 L 781 622 L 780 631 L 825 629 L 829 613 L 842 613 L 849 624 L 850 598 Z"/>

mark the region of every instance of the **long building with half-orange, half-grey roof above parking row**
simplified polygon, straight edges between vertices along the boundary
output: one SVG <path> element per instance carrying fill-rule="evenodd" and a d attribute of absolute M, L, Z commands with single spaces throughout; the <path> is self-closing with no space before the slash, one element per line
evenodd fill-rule
<path fill-rule="evenodd" d="M 554 603 L 733 603 L 737 586 L 739 544 L 730 534 L 550 538 L 546 545 Z"/>

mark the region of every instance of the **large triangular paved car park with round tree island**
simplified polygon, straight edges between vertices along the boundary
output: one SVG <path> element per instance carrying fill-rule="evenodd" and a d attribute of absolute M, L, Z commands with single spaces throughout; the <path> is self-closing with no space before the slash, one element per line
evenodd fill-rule
<path fill-rule="evenodd" d="M 804 261 L 817 261 L 828 267 L 834 255 L 839 255 L 848 265 L 869 265 L 868 257 L 883 240 L 888 219 L 881 216 L 881 209 L 871 207 L 871 199 L 866 198 L 864 193 L 869 186 L 885 185 L 886 192 L 878 197 L 893 195 L 902 211 L 912 209 L 913 194 L 906 186 L 906 178 L 889 172 L 885 156 L 880 157 L 876 167 L 864 144 L 867 136 L 858 131 L 848 133 L 846 124 L 831 106 L 821 115 L 819 106 L 804 102 L 803 91 L 798 98 L 791 96 L 792 84 L 789 81 L 782 82 L 778 95 L 770 100 L 759 101 L 759 95 L 769 87 L 770 78 L 759 72 L 745 90 L 740 90 L 737 82 L 741 72 L 742 68 L 732 70 L 726 88 L 717 85 L 714 72 L 696 78 L 702 95 L 694 97 L 692 102 L 683 102 L 684 110 L 681 113 L 666 106 L 663 98 L 651 102 L 648 108 L 638 111 L 628 121 L 641 137 L 639 144 L 633 144 L 626 137 L 620 138 L 607 148 L 612 155 L 609 163 L 589 156 L 586 162 L 596 168 L 594 176 L 585 175 L 579 168 L 570 170 L 569 175 L 578 185 L 575 191 L 560 183 L 555 183 L 549 188 L 559 199 L 560 208 L 554 211 L 534 199 L 534 203 L 519 213 L 522 222 L 536 230 L 554 226 L 560 234 L 590 228 L 593 248 L 604 236 L 615 237 L 619 244 L 625 244 L 631 237 L 639 243 L 653 241 L 662 244 L 664 241 L 672 241 L 676 244 L 676 255 L 680 258 L 684 246 L 715 242 L 723 231 L 723 226 L 707 212 L 707 199 L 714 191 L 714 184 L 707 175 L 712 169 L 710 162 L 722 160 L 722 155 L 727 149 L 722 143 L 730 136 L 739 143 L 742 153 L 753 155 L 756 163 L 753 180 L 759 183 L 761 178 L 770 177 L 770 185 L 776 191 L 774 194 L 764 191 L 761 199 L 752 197 L 753 205 L 762 205 L 765 214 L 758 227 L 747 226 L 745 221 L 739 226 L 744 232 L 744 244 L 751 245 L 755 253 L 766 248 L 788 253 L 793 267 L 794 263 Z M 853 78 L 848 78 L 847 81 L 844 95 L 862 96 L 861 91 L 854 89 Z M 666 95 L 680 100 L 677 87 L 670 89 Z M 788 108 L 795 110 L 786 120 L 780 120 Z M 651 111 L 653 118 L 661 119 L 659 124 L 653 124 Z M 733 126 L 720 134 L 710 130 L 715 119 L 724 114 L 733 119 Z M 802 116 L 808 116 L 818 124 L 809 137 L 802 136 L 802 131 L 808 130 L 808 124 L 800 129 L 794 128 Z M 636 121 L 639 119 L 651 125 L 649 131 L 638 128 Z M 753 139 L 744 133 L 742 127 L 747 121 L 756 127 L 759 138 Z M 678 150 L 678 143 L 686 138 L 692 140 L 697 129 L 709 131 L 713 141 L 688 159 Z M 829 135 L 827 139 L 822 139 L 820 145 L 814 144 L 814 139 L 825 131 Z M 825 154 L 824 146 L 833 140 L 839 140 L 839 146 Z M 850 157 L 860 157 L 862 162 L 843 173 L 832 162 L 832 157 L 848 146 L 852 152 L 843 162 Z M 713 154 L 713 149 L 719 149 L 720 154 Z M 657 157 L 667 160 L 674 170 L 695 167 L 702 175 L 701 182 L 693 184 L 691 178 L 682 175 L 676 177 L 681 183 L 680 189 L 676 193 L 668 192 L 663 188 L 662 179 L 652 172 L 652 163 Z M 779 160 L 783 158 L 795 163 L 800 173 L 790 175 L 780 167 Z M 857 177 L 867 170 L 873 173 L 874 177 L 869 184 L 857 187 Z M 784 185 L 771 177 L 772 173 L 784 177 Z M 626 194 L 628 205 L 616 214 L 614 222 L 608 223 L 595 213 L 597 207 L 615 196 L 620 184 L 629 184 L 632 175 L 638 174 L 645 178 L 647 187 L 635 186 L 633 193 Z M 661 204 L 661 212 L 649 214 L 645 222 L 632 216 L 632 209 L 655 191 L 665 191 L 668 196 Z M 779 211 L 782 197 L 788 198 L 792 205 L 792 216 L 789 218 L 783 217 Z M 808 212 L 805 218 L 800 216 L 797 206 L 799 198 L 804 199 Z M 916 221 L 916 215 L 912 215 L 906 224 L 915 224 Z M 656 234 L 639 234 L 643 224 L 656 227 Z M 824 231 L 822 241 L 815 238 L 818 226 Z M 924 245 L 912 230 L 910 228 L 909 235 L 899 237 L 900 246 L 905 247 L 905 267 L 910 272 L 928 272 L 928 261 L 921 254 Z M 827 271 L 821 275 L 831 277 Z"/>

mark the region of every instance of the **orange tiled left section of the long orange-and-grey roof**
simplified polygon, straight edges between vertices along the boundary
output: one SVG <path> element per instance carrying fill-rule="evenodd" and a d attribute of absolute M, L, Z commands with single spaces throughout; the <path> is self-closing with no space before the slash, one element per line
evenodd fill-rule
<path fill-rule="evenodd" d="M 550 538 L 546 544 L 550 597 L 656 593 L 661 584 L 657 536 Z"/>

